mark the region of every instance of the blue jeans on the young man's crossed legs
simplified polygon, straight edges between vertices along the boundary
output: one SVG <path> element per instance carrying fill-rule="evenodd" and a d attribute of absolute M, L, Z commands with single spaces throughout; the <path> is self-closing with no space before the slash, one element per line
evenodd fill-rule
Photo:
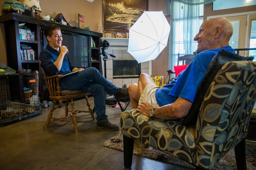
<path fill-rule="evenodd" d="M 118 87 L 109 82 L 94 67 L 86 68 L 74 74 L 64 76 L 60 80 L 60 90 L 82 90 L 93 94 L 97 122 L 108 121 L 106 115 L 106 92 L 114 95 Z"/>

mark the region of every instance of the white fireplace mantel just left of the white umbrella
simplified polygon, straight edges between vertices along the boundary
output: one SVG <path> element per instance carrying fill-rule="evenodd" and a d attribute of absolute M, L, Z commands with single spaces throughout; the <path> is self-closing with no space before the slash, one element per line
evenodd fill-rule
<path fill-rule="evenodd" d="M 101 40 L 109 41 L 109 48 L 116 49 L 128 49 L 129 38 L 105 38 L 101 37 Z"/>

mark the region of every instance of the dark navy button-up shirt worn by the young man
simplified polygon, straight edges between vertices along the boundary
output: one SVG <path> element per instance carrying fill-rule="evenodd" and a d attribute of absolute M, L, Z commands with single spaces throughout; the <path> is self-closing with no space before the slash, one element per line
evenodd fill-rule
<path fill-rule="evenodd" d="M 69 60 L 68 54 L 65 54 L 61 69 L 59 71 L 56 65 L 53 64 L 59 55 L 60 53 L 50 47 L 49 44 L 47 44 L 47 47 L 40 52 L 39 60 L 42 61 L 42 65 L 47 76 L 57 74 L 65 75 L 72 72 L 73 68 L 75 68 L 75 66 Z"/>

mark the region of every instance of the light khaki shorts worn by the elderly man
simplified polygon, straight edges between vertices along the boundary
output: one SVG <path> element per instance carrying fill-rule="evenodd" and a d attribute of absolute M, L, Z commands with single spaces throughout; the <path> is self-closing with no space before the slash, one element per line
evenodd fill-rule
<path fill-rule="evenodd" d="M 143 90 L 142 95 L 139 98 L 139 105 L 142 102 L 148 102 L 153 107 L 159 107 L 156 99 L 155 99 L 155 91 L 159 89 L 155 84 L 150 83 L 148 84 L 145 89 Z"/>

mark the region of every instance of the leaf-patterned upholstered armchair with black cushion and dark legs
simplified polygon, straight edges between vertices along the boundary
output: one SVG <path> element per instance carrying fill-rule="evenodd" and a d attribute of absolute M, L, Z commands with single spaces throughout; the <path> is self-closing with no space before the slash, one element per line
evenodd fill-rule
<path fill-rule="evenodd" d="M 199 87 L 201 94 L 196 94 L 197 104 L 193 103 L 183 125 L 135 110 L 122 112 L 124 166 L 131 167 L 137 140 L 194 164 L 197 169 L 213 168 L 235 148 L 237 168 L 246 169 L 245 137 L 256 98 L 256 62 L 232 60 L 251 59 L 229 52 L 215 56 Z"/>

